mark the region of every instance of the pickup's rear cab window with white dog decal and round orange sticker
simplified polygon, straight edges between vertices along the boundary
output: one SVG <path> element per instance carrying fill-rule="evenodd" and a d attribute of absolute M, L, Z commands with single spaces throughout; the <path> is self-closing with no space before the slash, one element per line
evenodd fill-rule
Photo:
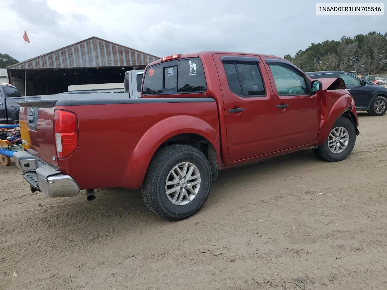
<path fill-rule="evenodd" d="M 183 94 L 205 92 L 207 84 L 199 58 L 166 61 L 147 68 L 142 94 Z"/>

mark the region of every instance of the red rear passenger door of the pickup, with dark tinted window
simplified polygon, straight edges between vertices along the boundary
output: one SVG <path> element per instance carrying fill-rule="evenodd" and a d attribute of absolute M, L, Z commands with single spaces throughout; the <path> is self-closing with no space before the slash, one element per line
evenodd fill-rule
<path fill-rule="evenodd" d="M 222 88 L 230 160 L 273 152 L 276 111 L 259 56 L 214 54 L 213 58 Z"/>

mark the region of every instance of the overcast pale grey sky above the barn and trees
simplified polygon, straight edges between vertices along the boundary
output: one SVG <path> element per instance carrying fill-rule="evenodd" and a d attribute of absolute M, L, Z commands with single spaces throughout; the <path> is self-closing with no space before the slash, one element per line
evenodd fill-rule
<path fill-rule="evenodd" d="M 315 3 L 314 0 L 0 0 L 0 53 L 24 60 L 24 30 L 31 41 L 26 45 L 27 59 L 91 36 L 156 56 L 224 50 L 283 57 L 317 43 L 317 36 L 322 42 L 339 40 L 343 35 L 387 31 L 387 15 L 316 16 Z"/>

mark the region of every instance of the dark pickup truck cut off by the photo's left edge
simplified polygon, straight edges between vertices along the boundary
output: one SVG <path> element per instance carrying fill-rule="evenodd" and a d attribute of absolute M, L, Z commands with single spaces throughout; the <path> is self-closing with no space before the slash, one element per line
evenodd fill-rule
<path fill-rule="evenodd" d="M 0 84 L 0 124 L 14 124 L 19 119 L 19 104 L 24 100 L 36 100 L 40 96 L 21 97 L 19 91 L 10 84 Z"/>

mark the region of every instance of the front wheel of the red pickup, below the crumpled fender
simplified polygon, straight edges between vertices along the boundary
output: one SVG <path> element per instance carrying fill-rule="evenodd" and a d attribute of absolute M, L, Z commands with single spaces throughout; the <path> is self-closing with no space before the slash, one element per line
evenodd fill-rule
<path fill-rule="evenodd" d="M 327 140 L 321 146 L 313 148 L 313 152 L 322 160 L 337 162 L 351 154 L 355 142 L 356 131 L 353 123 L 347 118 L 339 118 L 334 123 Z"/>

